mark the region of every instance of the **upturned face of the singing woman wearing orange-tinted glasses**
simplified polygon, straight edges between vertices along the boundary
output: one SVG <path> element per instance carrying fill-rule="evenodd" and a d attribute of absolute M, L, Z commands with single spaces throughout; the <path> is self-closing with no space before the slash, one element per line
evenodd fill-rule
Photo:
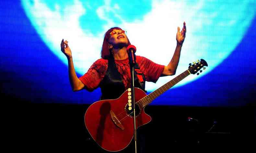
<path fill-rule="evenodd" d="M 123 47 L 128 45 L 128 39 L 123 30 L 114 29 L 110 34 L 109 43 L 113 47 Z"/>

